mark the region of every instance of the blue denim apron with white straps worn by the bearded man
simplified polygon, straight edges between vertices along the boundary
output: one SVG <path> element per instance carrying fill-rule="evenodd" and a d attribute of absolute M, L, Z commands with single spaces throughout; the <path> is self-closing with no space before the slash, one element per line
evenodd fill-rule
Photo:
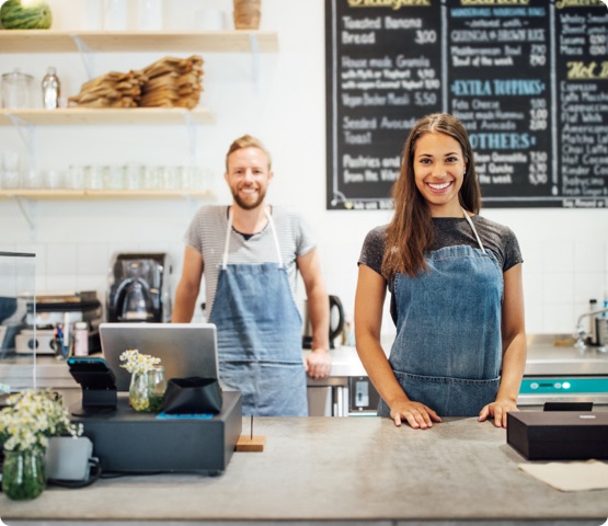
<path fill-rule="evenodd" d="M 217 327 L 219 377 L 242 393 L 242 412 L 307 416 L 302 321 L 273 232 L 278 263 L 228 264 L 232 211 L 209 321 Z"/>

